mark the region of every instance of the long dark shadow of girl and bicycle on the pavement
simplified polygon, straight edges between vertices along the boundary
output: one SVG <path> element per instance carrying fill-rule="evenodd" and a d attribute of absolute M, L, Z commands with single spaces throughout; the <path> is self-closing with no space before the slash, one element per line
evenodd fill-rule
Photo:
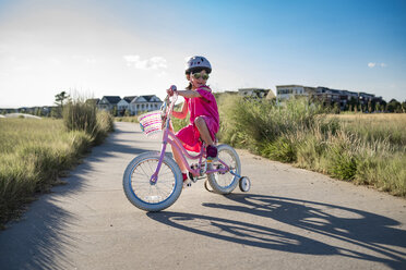
<path fill-rule="evenodd" d="M 203 206 L 272 219 L 302 229 L 303 233 L 299 235 L 259 224 L 192 213 L 165 211 L 147 216 L 177 229 L 237 244 L 297 254 L 345 256 L 382 262 L 393 269 L 406 269 L 406 254 L 399 251 L 406 248 L 406 232 L 391 228 L 398 225 L 395 220 L 309 200 L 252 194 L 226 197 L 234 202 Z M 331 242 L 344 242 L 356 250 L 317 241 L 312 235 L 329 237 Z"/>

